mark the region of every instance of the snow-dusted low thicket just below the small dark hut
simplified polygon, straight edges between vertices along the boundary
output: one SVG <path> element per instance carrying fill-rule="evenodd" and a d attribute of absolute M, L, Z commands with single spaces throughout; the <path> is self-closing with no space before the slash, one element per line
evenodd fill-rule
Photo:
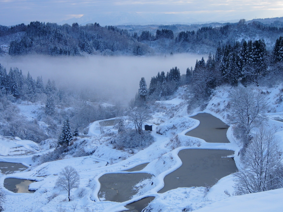
<path fill-rule="evenodd" d="M 139 134 L 136 130 L 132 129 L 125 130 L 111 138 L 113 147 L 117 149 L 144 148 L 149 146 L 153 141 L 153 136 L 149 131 Z"/>

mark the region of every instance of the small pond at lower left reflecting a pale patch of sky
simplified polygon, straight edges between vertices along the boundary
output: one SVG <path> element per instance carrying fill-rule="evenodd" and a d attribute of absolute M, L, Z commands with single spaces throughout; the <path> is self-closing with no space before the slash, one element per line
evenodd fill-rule
<path fill-rule="evenodd" d="M 34 193 L 35 191 L 29 190 L 29 184 L 36 182 L 34 180 L 22 180 L 18 178 L 4 179 L 4 187 L 14 193 Z"/>

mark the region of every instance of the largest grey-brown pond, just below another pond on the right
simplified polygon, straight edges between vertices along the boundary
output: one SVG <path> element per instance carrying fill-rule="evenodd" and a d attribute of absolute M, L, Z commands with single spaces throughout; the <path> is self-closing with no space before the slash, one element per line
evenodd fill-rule
<path fill-rule="evenodd" d="M 222 149 L 183 149 L 178 156 L 181 167 L 164 178 L 164 187 L 158 193 L 171 189 L 214 185 L 219 179 L 237 171 L 232 158 L 234 151 Z"/>

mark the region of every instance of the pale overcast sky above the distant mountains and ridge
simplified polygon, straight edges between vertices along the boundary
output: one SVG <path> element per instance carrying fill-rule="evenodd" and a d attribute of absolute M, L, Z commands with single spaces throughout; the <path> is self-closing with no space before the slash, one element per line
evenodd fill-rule
<path fill-rule="evenodd" d="M 176 13 L 200 22 L 283 16 L 283 1 L 265 0 L 0 0 L 0 24 L 60 22 L 109 12 Z"/>

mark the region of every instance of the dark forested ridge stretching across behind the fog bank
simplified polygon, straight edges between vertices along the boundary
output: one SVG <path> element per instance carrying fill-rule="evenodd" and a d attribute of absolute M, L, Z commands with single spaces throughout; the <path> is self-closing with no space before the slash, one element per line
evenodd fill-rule
<path fill-rule="evenodd" d="M 225 43 L 233 44 L 242 39 L 254 41 L 260 38 L 265 40 L 267 48 L 272 48 L 283 32 L 283 22 L 278 20 L 271 23 L 240 20 L 237 23 L 210 25 L 119 27 L 100 26 L 99 23 L 85 26 L 73 23 L 70 26 L 36 21 L 28 25 L 0 26 L 0 42 L 9 46 L 7 53 L 12 56 L 154 55 L 209 53 Z"/>

